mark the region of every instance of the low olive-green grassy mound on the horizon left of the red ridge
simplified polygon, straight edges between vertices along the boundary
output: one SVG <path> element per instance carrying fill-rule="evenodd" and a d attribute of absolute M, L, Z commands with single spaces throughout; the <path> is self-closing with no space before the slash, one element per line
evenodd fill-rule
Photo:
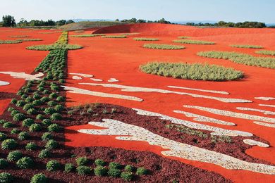
<path fill-rule="evenodd" d="M 85 21 L 78 23 L 70 23 L 59 27 L 61 30 L 86 30 L 92 28 L 108 27 L 112 25 L 123 25 L 125 23 L 115 21 Z"/>

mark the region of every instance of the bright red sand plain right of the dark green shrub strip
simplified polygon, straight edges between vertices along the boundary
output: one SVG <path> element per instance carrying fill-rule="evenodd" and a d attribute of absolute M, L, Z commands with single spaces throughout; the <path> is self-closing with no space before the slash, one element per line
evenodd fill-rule
<path fill-rule="evenodd" d="M 124 26 L 124 27 L 123 27 Z M 159 94 L 154 92 L 121 92 L 120 89 L 92 87 L 79 85 L 78 82 L 92 82 L 89 79 L 83 80 L 67 80 L 67 86 L 80 87 L 82 89 L 90 89 L 97 92 L 106 92 L 111 94 L 124 94 L 130 96 L 138 96 L 144 101 L 127 101 L 122 99 L 108 99 L 97 96 L 87 96 L 81 94 L 71 94 L 67 92 L 69 102 L 68 106 L 76 106 L 79 103 L 112 103 L 125 106 L 128 108 L 141 108 L 147 111 L 170 115 L 175 118 L 192 120 L 184 115 L 173 113 L 173 110 L 183 110 L 190 113 L 205 115 L 219 120 L 226 120 L 236 123 L 237 126 L 224 126 L 210 124 L 216 127 L 223 127 L 230 130 L 243 130 L 251 132 L 262 139 L 269 141 L 271 147 L 264 149 L 253 147 L 247 151 L 250 156 L 267 160 L 275 163 L 275 139 L 274 129 L 270 127 L 262 127 L 252 123 L 252 120 L 243 120 L 238 118 L 230 118 L 222 115 L 214 115 L 211 113 L 197 111 L 190 108 L 183 108 L 183 105 L 205 106 L 209 108 L 217 108 L 239 113 L 264 115 L 259 112 L 238 111 L 236 107 L 260 108 L 267 111 L 274 111 L 269 107 L 258 106 L 259 103 L 274 105 L 275 101 L 260 101 L 254 99 L 256 96 L 275 96 L 275 71 L 268 68 L 257 68 L 247 65 L 240 65 L 231 61 L 202 58 L 196 56 L 198 51 L 238 51 L 242 53 L 250 53 L 255 56 L 256 49 L 238 49 L 228 46 L 228 44 L 259 44 L 265 49 L 275 49 L 274 29 L 237 29 L 237 28 L 196 28 L 183 27 L 179 25 L 123 25 L 122 27 L 103 28 L 95 31 L 96 33 L 115 33 L 115 32 L 140 32 L 140 34 L 130 35 L 126 39 L 107 39 L 102 37 L 71 37 L 70 44 L 81 44 L 84 49 L 77 51 L 69 51 L 68 53 L 68 73 L 79 72 L 92 74 L 94 78 L 104 80 L 104 83 L 111 77 L 115 77 L 119 82 L 114 84 L 123 84 L 133 87 L 149 87 L 157 89 L 169 89 L 177 92 L 190 92 L 193 94 L 205 94 L 209 96 L 221 96 L 236 99 L 248 99 L 253 103 L 223 103 L 212 99 L 193 98 L 191 96 L 183 96 L 176 94 Z M 136 27 L 135 27 L 136 26 Z M 148 26 L 148 28 L 146 27 Z M 120 30 L 122 29 L 122 30 Z M 174 31 L 175 30 L 175 31 Z M 85 33 L 90 33 L 86 31 Z M 216 42 L 215 45 L 195 45 L 185 44 L 186 49 L 183 50 L 154 50 L 142 48 L 146 42 L 136 42 L 133 37 L 156 37 L 160 41 L 154 43 L 174 44 L 173 39 L 178 36 L 192 36 L 194 39 L 202 39 Z M 192 39 L 193 39 L 192 38 Z M 150 42 L 151 43 L 151 42 Z M 231 82 L 207 82 L 194 80 L 178 80 L 168 77 L 159 77 L 157 75 L 147 75 L 140 72 L 139 66 L 142 63 L 150 61 L 167 61 L 167 62 L 186 62 L 186 63 L 211 63 L 216 65 L 224 65 L 226 67 L 236 68 L 245 72 L 245 78 L 239 81 Z M 72 75 L 71 75 L 72 76 Z M 71 78 L 69 75 L 69 77 Z M 181 89 L 170 89 L 167 86 L 174 85 L 179 87 L 192 87 L 198 89 L 211 89 L 229 92 L 230 95 L 208 94 L 204 92 L 187 91 Z M 198 122 L 200 123 L 200 122 Z M 87 127 L 85 127 L 87 128 Z M 70 127 L 70 130 L 78 130 L 79 127 Z M 123 149 L 135 149 L 139 151 L 153 151 L 160 153 L 159 147 L 149 146 L 143 142 L 123 142 L 114 139 L 114 137 L 98 137 L 86 134 L 66 134 L 68 146 L 114 146 Z M 100 140 L 99 140 L 100 139 Z M 101 140 L 102 139 L 102 140 Z M 234 182 L 259 182 L 265 180 L 274 182 L 275 177 L 271 175 L 263 175 L 255 172 L 243 170 L 226 170 L 217 165 L 208 163 L 200 163 L 196 161 L 179 159 L 183 163 L 188 163 L 199 168 L 219 172 L 226 178 Z"/>

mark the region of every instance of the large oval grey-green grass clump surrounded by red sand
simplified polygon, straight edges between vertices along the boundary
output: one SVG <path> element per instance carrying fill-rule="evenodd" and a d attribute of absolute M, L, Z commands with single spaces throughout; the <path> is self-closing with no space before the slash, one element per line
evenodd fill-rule
<path fill-rule="evenodd" d="M 227 81 L 238 80 L 243 77 L 243 72 L 239 70 L 201 63 L 152 62 L 140 65 L 140 70 L 147 74 L 187 80 Z"/>

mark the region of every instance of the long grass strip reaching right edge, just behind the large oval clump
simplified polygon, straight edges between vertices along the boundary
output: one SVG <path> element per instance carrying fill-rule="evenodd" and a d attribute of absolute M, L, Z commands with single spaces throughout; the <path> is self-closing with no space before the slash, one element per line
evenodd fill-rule
<path fill-rule="evenodd" d="M 201 51 L 198 56 L 207 58 L 219 58 L 233 61 L 244 65 L 257 66 L 261 68 L 275 68 L 275 58 L 256 57 L 245 53 L 229 52 L 229 51 Z"/>

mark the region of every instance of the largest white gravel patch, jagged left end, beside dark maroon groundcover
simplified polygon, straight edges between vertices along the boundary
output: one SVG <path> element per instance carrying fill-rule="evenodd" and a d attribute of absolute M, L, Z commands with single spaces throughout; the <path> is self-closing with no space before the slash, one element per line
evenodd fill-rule
<path fill-rule="evenodd" d="M 248 170 L 268 175 L 275 175 L 275 167 L 260 163 L 250 163 L 223 153 L 209 151 L 196 146 L 173 141 L 149 130 L 135 125 L 130 125 L 118 120 L 104 119 L 103 122 L 89 122 L 90 125 L 104 127 L 103 130 L 78 130 L 78 132 L 95 135 L 116 135 L 122 141 L 147 141 L 150 145 L 161 146 L 164 156 L 173 156 L 187 160 L 196 160 L 204 163 L 212 163 L 229 170 Z"/>

